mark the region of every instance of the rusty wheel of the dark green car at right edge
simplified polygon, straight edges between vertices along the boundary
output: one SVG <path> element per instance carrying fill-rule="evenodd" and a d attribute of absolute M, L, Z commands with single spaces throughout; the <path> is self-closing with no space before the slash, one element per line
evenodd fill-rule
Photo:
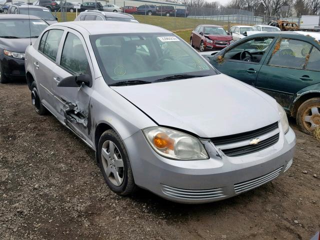
<path fill-rule="evenodd" d="M 310 98 L 298 107 L 296 122 L 301 131 L 312 135 L 315 128 L 320 126 L 320 97 Z"/>

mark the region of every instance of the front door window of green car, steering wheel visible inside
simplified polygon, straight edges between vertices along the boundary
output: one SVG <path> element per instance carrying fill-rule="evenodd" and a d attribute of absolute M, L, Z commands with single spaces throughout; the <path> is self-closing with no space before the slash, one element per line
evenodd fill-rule
<path fill-rule="evenodd" d="M 244 42 L 241 42 L 240 44 L 232 47 L 231 49 L 227 50 L 224 54 L 224 60 L 241 60 L 240 54 L 243 51 L 249 51 L 252 55 L 252 58 L 250 61 L 252 62 L 260 62 L 262 56 L 266 52 L 268 46 L 271 44 L 273 38 L 272 37 L 257 37 L 253 38 Z M 248 54 L 246 53 L 246 56 Z M 248 59 L 242 59 L 246 62 L 248 62 Z"/>

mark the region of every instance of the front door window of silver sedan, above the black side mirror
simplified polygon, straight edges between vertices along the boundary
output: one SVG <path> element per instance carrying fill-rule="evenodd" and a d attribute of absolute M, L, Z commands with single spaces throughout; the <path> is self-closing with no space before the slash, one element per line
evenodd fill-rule
<path fill-rule="evenodd" d="M 89 63 L 81 40 L 69 32 L 65 38 L 60 65 L 73 74 L 89 74 Z"/>

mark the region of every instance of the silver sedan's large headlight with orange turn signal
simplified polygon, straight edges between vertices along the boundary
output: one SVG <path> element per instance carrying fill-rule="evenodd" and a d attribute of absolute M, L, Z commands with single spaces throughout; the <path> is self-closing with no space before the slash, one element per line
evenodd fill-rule
<path fill-rule="evenodd" d="M 200 140 L 184 132 L 165 127 L 143 129 L 145 138 L 161 156 L 176 160 L 201 160 L 209 156 Z"/>

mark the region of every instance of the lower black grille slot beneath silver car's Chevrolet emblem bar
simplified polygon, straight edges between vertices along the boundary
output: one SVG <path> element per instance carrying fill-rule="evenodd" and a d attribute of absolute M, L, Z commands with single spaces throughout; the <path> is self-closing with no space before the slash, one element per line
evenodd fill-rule
<path fill-rule="evenodd" d="M 259 150 L 262 150 L 264 148 L 267 148 L 269 146 L 272 146 L 279 140 L 279 133 L 260 141 L 258 144 L 255 145 L 245 145 L 245 146 L 239 146 L 235 148 L 230 149 L 223 149 L 225 155 L 227 156 L 241 156 L 249 153 L 253 153 Z"/>

